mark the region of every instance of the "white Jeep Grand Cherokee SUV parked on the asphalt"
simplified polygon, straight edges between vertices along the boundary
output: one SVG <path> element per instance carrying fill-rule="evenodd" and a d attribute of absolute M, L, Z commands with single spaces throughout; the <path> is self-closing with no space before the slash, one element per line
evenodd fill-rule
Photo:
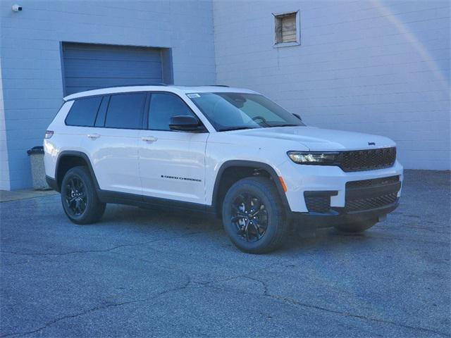
<path fill-rule="evenodd" d="M 391 139 L 307 127 L 224 86 L 66 96 L 44 151 L 73 223 L 96 222 L 106 203 L 198 209 L 250 253 L 276 249 L 290 225 L 366 230 L 397 207 L 402 185 Z"/>

